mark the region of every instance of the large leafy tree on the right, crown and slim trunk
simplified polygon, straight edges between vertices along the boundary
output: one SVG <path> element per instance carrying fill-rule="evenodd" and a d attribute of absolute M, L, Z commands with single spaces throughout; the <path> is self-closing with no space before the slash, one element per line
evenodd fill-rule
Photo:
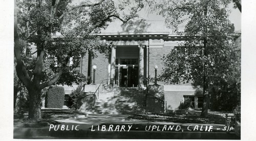
<path fill-rule="evenodd" d="M 239 77 L 238 58 L 234 58 L 233 25 L 229 21 L 228 0 L 167 0 L 159 5 L 160 14 L 184 42 L 164 56 L 161 78 L 169 83 L 190 82 L 203 88 L 201 117 L 207 117 L 209 86 Z M 184 30 L 179 25 L 185 24 Z M 238 52 L 239 53 L 239 52 Z M 236 65 L 236 66 L 234 66 Z M 240 77 L 239 77 L 240 78 Z M 237 78 L 237 79 L 239 79 Z M 239 83 L 236 81 L 236 83 Z"/>

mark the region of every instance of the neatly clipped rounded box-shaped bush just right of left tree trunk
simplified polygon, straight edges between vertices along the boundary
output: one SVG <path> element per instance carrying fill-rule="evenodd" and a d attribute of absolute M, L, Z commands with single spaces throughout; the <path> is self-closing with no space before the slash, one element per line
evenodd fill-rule
<path fill-rule="evenodd" d="M 45 98 L 46 108 L 62 108 L 64 104 L 65 91 L 63 87 L 53 86 L 48 89 Z"/>

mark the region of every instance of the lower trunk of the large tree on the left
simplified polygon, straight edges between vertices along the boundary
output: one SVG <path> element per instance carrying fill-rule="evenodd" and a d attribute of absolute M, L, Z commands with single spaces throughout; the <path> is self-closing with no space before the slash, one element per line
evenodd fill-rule
<path fill-rule="evenodd" d="M 29 119 L 41 121 L 41 99 L 40 90 L 31 89 L 29 91 Z"/>

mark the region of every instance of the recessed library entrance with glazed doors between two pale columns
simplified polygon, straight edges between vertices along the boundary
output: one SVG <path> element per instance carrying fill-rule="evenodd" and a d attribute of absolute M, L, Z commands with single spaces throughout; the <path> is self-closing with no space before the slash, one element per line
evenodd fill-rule
<path fill-rule="evenodd" d="M 144 44 L 113 45 L 111 50 L 111 84 L 119 87 L 138 87 L 143 84 Z M 145 48 L 146 49 L 146 48 Z"/>

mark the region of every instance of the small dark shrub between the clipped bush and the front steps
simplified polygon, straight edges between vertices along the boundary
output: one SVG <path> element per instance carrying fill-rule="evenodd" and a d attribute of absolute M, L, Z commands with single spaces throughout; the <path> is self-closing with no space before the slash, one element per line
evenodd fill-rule
<path fill-rule="evenodd" d="M 82 88 L 84 85 L 79 84 L 79 86 L 76 88 L 76 90 L 72 91 L 69 97 L 68 105 L 69 108 L 75 108 L 77 109 L 77 97 L 80 94 Z"/>

